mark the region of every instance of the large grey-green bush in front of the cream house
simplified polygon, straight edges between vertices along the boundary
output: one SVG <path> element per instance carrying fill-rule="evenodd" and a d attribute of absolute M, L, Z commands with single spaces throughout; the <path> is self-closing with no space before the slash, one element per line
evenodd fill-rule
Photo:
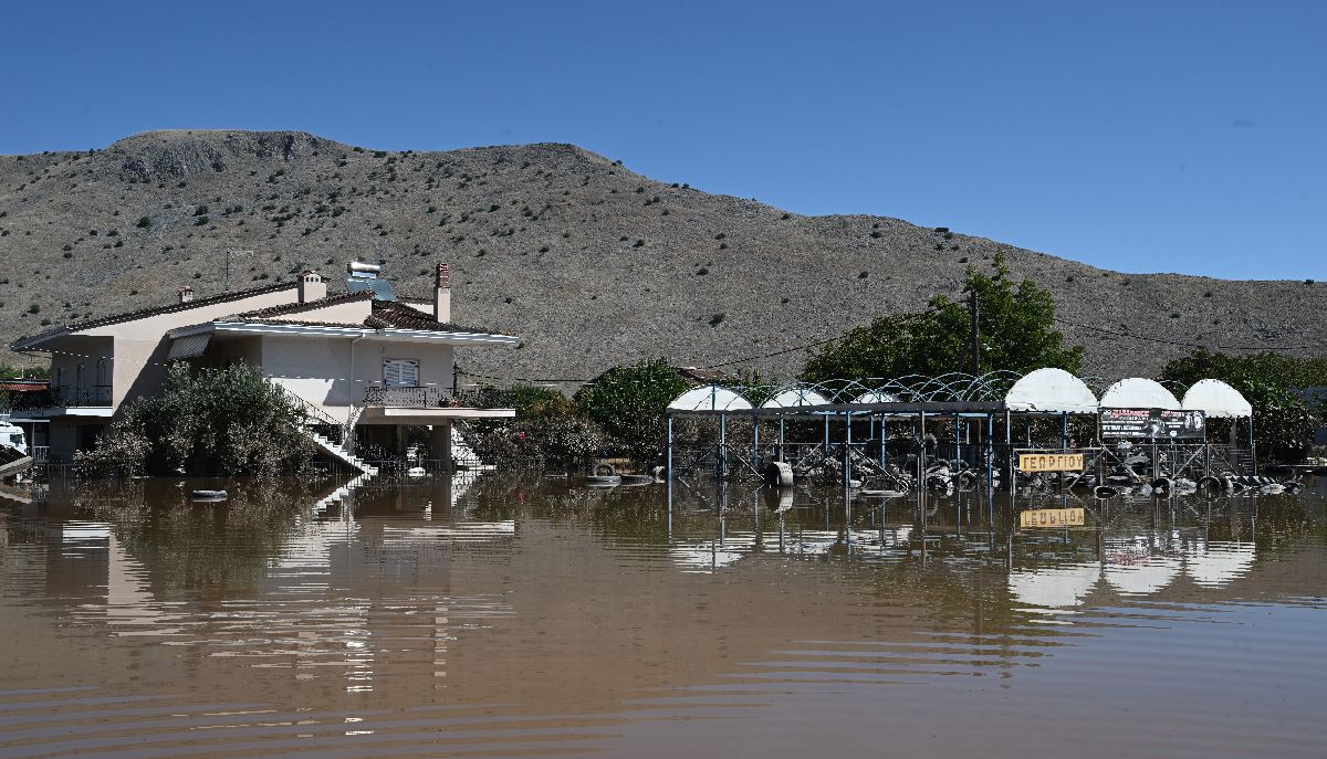
<path fill-rule="evenodd" d="M 275 475 L 313 456 L 304 410 L 245 364 L 190 374 L 174 364 L 166 391 L 139 398 L 77 464 L 86 474 L 218 471 Z"/>

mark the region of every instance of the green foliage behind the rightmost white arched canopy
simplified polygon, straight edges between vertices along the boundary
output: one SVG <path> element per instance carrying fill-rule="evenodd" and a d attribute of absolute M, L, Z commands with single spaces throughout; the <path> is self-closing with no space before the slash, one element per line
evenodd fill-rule
<path fill-rule="evenodd" d="M 1161 377 L 1181 385 L 1221 380 L 1239 390 L 1253 405 L 1259 451 L 1278 459 L 1303 458 L 1312 446 L 1315 417 L 1327 415 L 1327 409 L 1311 409 L 1295 393 L 1327 386 L 1327 357 L 1322 356 L 1299 358 L 1271 352 L 1229 356 L 1200 348 L 1166 364 Z"/>

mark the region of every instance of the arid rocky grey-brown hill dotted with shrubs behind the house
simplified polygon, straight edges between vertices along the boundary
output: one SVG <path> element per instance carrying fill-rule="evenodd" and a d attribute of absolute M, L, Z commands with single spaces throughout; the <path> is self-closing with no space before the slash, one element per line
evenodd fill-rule
<path fill-rule="evenodd" d="M 467 370 L 580 380 L 644 357 L 707 366 L 840 334 L 957 293 L 965 267 L 1001 247 L 1055 293 L 1092 374 L 1153 373 L 1189 350 L 1170 342 L 1323 345 L 1327 284 L 1121 275 L 898 219 L 800 216 L 571 145 L 397 153 L 293 131 L 159 131 L 0 157 L 0 344 L 165 303 L 178 285 L 219 292 L 227 249 L 252 251 L 231 256 L 234 288 L 304 267 L 337 277 L 360 257 L 423 295 L 447 261 L 455 320 L 524 338 L 463 352 Z M 802 361 L 743 366 L 790 378 Z"/>

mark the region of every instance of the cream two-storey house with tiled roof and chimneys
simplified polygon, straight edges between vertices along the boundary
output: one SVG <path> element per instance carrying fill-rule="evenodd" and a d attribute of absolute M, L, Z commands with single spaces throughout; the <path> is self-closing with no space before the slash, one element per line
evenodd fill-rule
<path fill-rule="evenodd" d="M 430 425 L 438 458 L 447 458 L 455 419 L 512 415 L 467 406 L 456 395 L 453 352 L 516 344 L 516 337 L 451 321 L 446 265 L 437 268 L 429 300 L 398 297 L 385 281 L 358 275 L 346 279 L 346 292 L 329 295 L 311 271 L 297 281 L 210 297 L 195 299 L 183 287 L 170 305 L 15 342 L 15 350 L 48 353 L 52 376 L 49 391 L 27 399 L 15 418 L 49 422 L 50 455 L 69 460 L 94 445 L 126 401 L 159 393 L 171 361 L 243 361 L 318 418 L 354 423 L 361 437 L 401 451 L 405 426 Z"/>

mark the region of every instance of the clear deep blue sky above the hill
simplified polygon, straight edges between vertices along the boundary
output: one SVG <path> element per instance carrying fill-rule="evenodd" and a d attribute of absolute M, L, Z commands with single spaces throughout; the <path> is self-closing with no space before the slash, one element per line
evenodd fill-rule
<path fill-rule="evenodd" d="M 573 142 L 800 214 L 1327 280 L 1327 3 L 7 4 L 0 153 Z"/>

